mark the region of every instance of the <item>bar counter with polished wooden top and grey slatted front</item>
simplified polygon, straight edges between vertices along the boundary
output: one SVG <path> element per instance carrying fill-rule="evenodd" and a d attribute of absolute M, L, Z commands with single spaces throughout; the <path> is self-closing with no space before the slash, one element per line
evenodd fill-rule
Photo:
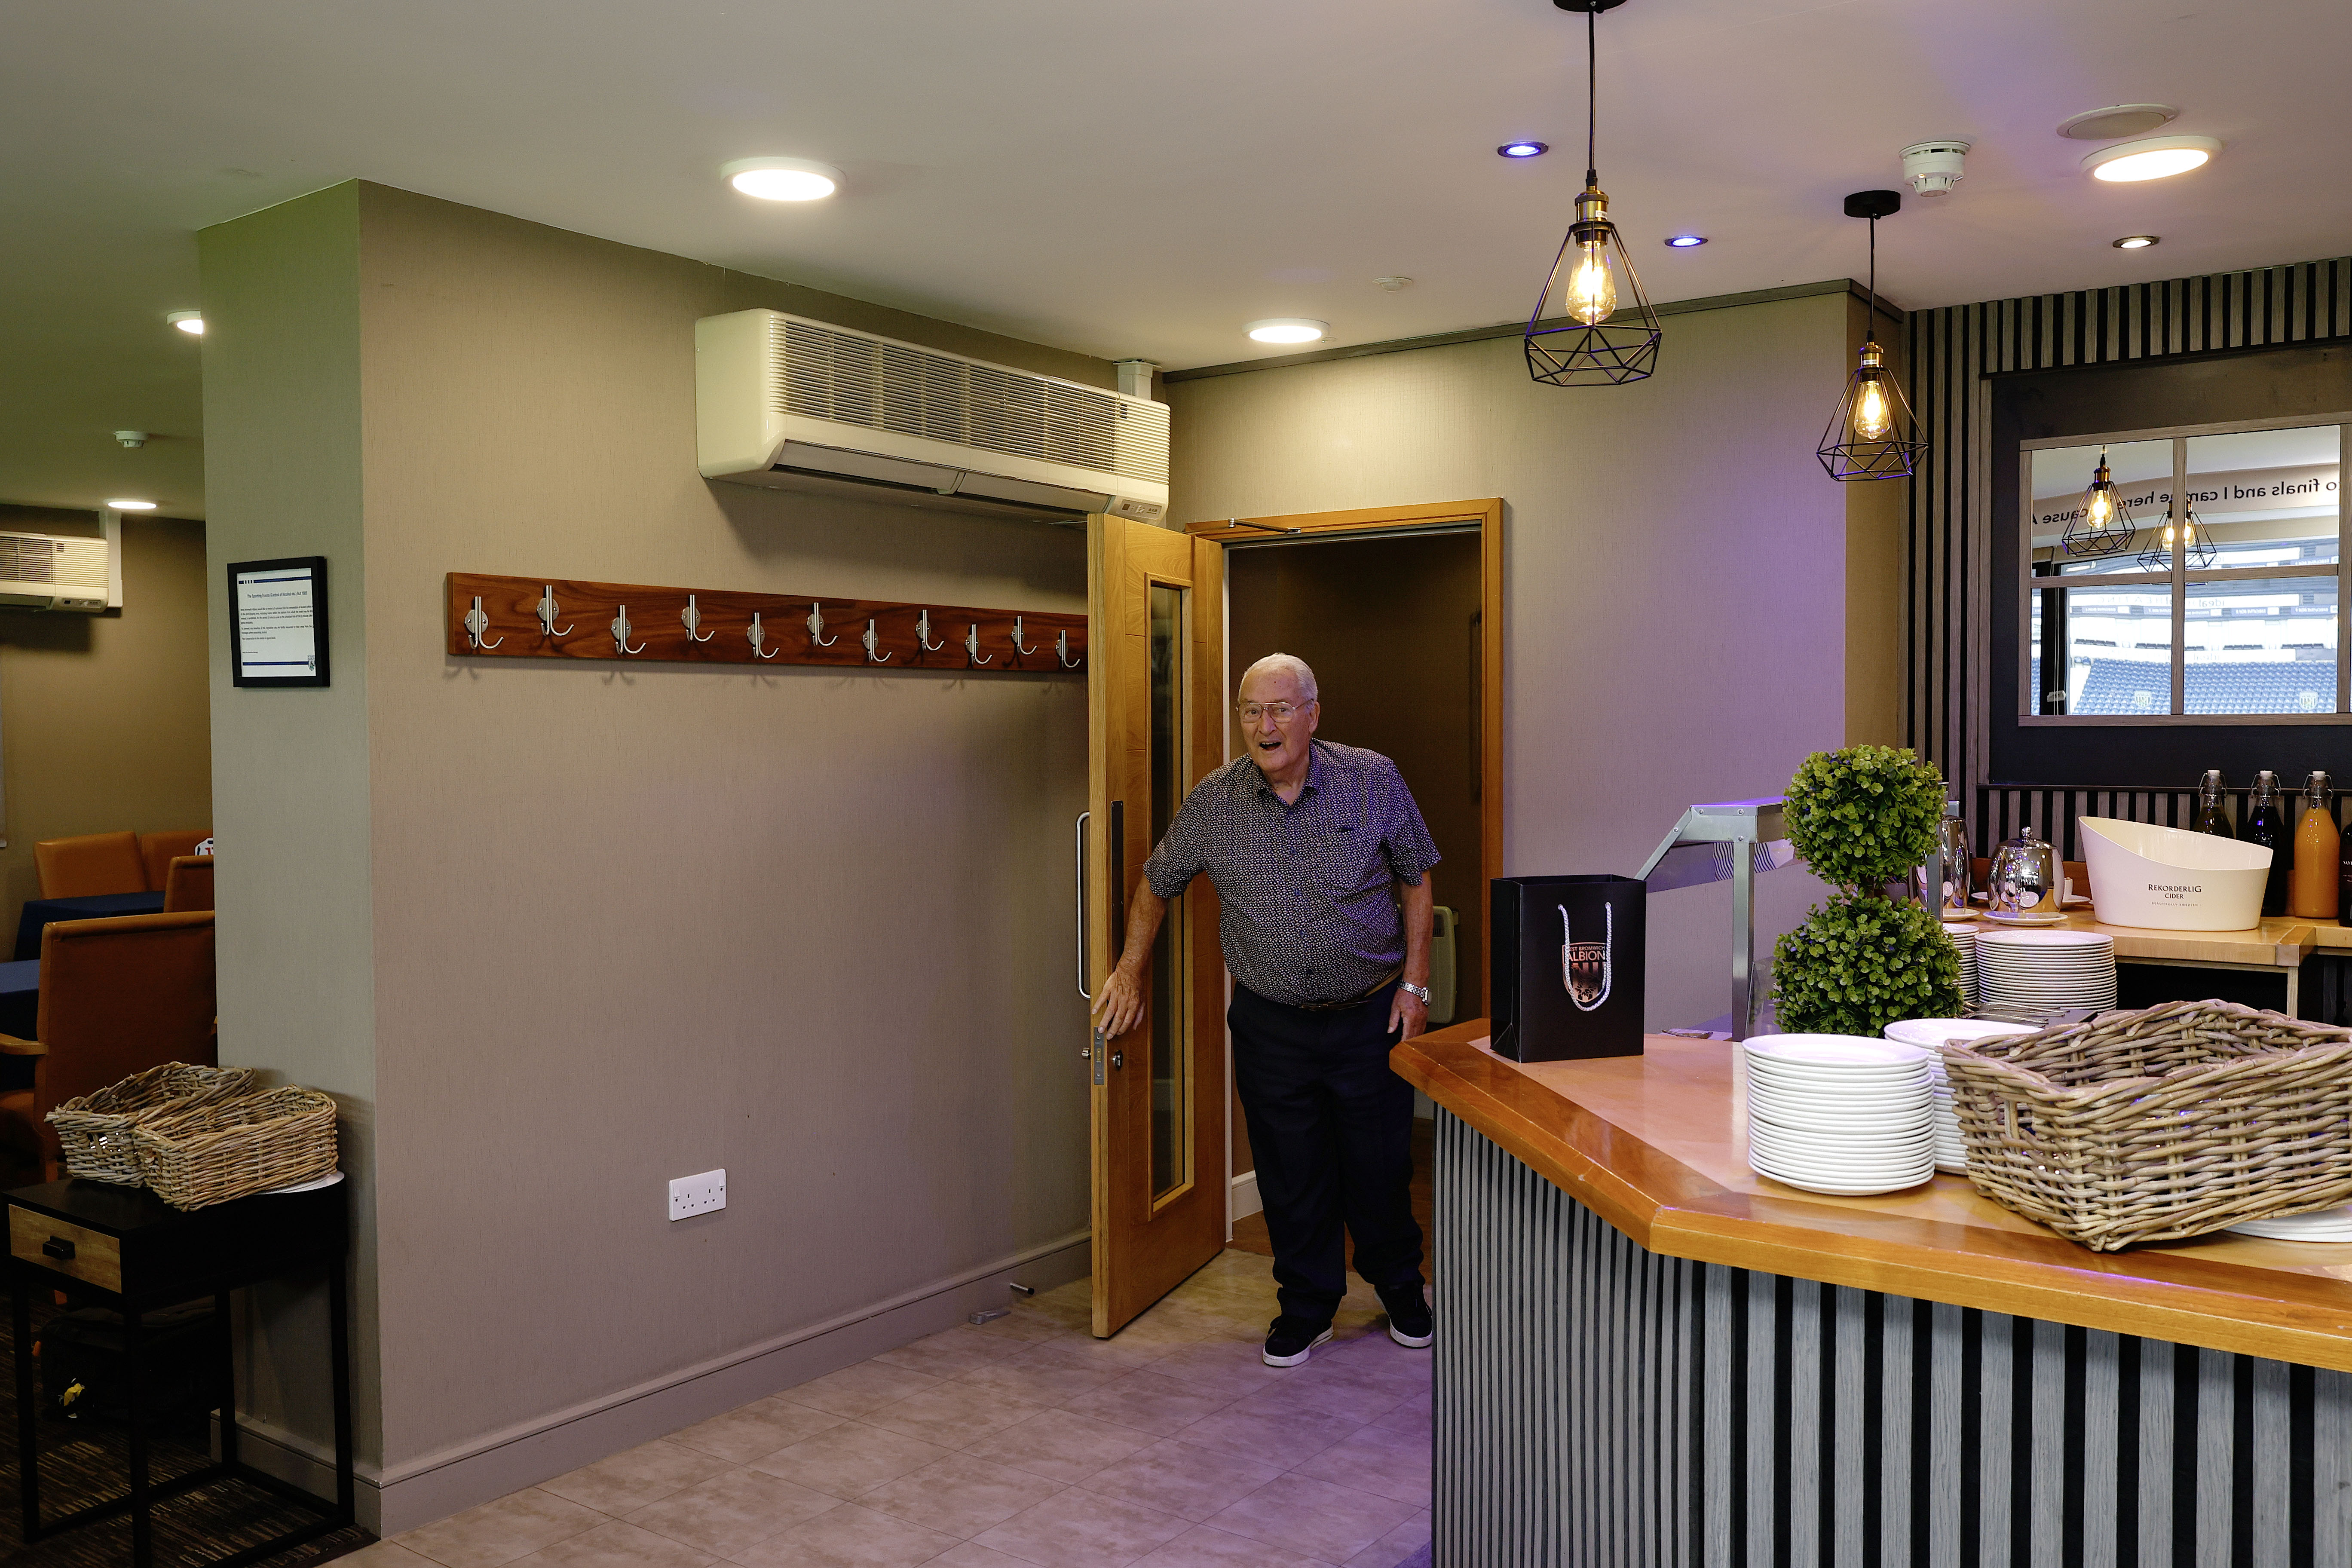
<path fill-rule="evenodd" d="M 1722 1041 L 1390 1060 L 1439 1107 L 1439 1568 L 2352 1563 L 2352 1246 L 1797 1192 Z"/>

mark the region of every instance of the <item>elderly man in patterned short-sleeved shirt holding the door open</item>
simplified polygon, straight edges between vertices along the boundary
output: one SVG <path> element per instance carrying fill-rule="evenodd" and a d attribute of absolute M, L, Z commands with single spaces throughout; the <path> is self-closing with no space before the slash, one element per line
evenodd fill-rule
<path fill-rule="evenodd" d="M 1430 1013 L 1430 884 L 1437 846 L 1397 764 L 1315 738 L 1315 672 L 1289 654 L 1249 665 L 1249 755 L 1192 788 L 1143 867 L 1127 952 L 1094 1004 L 1103 1034 L 1143 1016 L 1143 969 L 1167 903 L 1200 872 L 1218 896 L 1232 973 L 1232 1079 L 1275 1244 L 1282 1314 L 1268 1366 L 1331 1338 L 1355 1272 L 1388 1307 L 1388 1335 L 1432 1338 L 1414 1222 L 1414 1091 L 1388 1048 Z"/>

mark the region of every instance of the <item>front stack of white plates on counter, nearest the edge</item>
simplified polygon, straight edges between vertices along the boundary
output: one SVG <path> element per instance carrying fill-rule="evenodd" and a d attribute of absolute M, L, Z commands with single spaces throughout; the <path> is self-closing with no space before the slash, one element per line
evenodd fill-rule
<path fill-rule="evenodd" d="M 1929 1051 L 1858 1034 L 1757 1034 L 1748 1166 L 1806 1192 L 1900 1192 L 1936 1175 Z"/>

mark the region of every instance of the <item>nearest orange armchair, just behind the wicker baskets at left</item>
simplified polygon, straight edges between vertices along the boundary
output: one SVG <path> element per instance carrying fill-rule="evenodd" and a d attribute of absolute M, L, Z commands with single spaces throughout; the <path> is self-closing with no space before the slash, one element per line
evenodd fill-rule
<path fill-rule="evenodd" d="M 0 1180 L 56 1180 L 61 1103 L 162 1063 L 216 1065 L 212 910 L 59 919 L 40 938 L 40 1039 L 33 1088 L 0 1095 Z"/>

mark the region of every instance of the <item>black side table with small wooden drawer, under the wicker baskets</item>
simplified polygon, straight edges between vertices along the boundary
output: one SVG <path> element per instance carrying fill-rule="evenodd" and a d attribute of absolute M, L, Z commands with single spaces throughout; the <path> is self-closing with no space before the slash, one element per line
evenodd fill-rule
<path fill-rule="evenodd" d="M 132 1568 L 155 1559 L 148 1509 L 179 1493 L 230 1476 L 249 1481 L 318 1519 L 278 1540 L 212 1559 L 207 1568 L 238 1568 L 353 1523 L 350 1443 L 350 1300 L 343 1284 L 343 1185 L 313 1192 L 256 1194 L 181 1213 L 146 1187 L 64 1180 L 7 1194 L 9 1307 L 16 1326 L 16 1474 L 24 1483 L 26 1544 L 115 1514 L 132 1516 Z M 334 1505 L 287 1486 L 238 1460 L 235 1345 L 228 1293 L 263 1279 L 327 1274 L 327 1354 L 334 1380 Z M 129 1495 L 40 1521 L 40 1394 L 33 1387 L 33 1293 L 64 1291 L 80 1305 L 122 1314 L 122 1361 L 129 1403 Z M 221 1354 L 221 1458 L 165 1486 L 148 1483 L 148 1418 L 141 1394 L 141 1328 L 146 1312 L 214 1300 Z"/>

